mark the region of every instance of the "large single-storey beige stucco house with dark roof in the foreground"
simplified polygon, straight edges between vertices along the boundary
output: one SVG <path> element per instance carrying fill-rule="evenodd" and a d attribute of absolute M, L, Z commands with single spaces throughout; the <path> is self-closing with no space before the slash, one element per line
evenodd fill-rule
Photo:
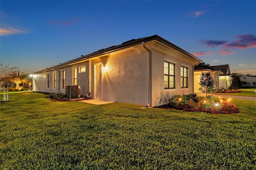
<path fill-rule="evenodd" d="M 33 91 L 62 92 L 80 85 L 92 99 L 154 107 L 170 95 L 194 92 L 194 55 L 154 35 L 100 49 L 33 73 Z"/>

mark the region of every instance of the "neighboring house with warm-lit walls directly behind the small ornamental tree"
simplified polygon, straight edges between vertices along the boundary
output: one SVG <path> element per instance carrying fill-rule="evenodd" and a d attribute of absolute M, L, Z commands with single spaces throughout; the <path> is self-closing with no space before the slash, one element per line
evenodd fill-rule
<path fill-rule="evenodd" d="M 223 74 L 219 69 L 214 69 L 210 65 L 206 65 L 205 63 L 200 63 L 194 67 L 194 93 L 200 93 L 198 90 L 200 88 L 200 75 L 202 72 L 210 71 L 210 75 L 214 79 L 214 89 L 220 89 L 220 75 Z"/>

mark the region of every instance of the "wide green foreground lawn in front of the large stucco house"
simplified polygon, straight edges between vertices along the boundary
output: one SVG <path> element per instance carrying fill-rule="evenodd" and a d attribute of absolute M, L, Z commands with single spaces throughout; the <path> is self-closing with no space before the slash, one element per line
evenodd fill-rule
<path fill-rule="evenodd" d="M 210 115 L 44 97 L 0 103 L 0 169 L 256 169 L 255 101 Z"/>

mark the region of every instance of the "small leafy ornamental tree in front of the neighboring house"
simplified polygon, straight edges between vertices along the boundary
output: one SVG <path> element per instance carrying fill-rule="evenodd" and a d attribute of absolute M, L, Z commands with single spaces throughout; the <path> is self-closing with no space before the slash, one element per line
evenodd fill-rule
<path fill-rule="evenodd" d="M 202 93 L 206 93 L 207 96 L 207 93 L 211 93 L 213 91 L 214 84 L 214 79 L 210 75 L 210 72 L 202 72 L 200 75 L 200 88 L 198 90 Z"/>

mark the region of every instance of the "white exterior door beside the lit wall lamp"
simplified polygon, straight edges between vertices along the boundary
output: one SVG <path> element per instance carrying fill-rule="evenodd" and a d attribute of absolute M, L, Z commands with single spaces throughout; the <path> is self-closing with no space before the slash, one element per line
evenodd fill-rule
<path fill-rule="evenodd" d="M 102 65 L 97 64 L 95 65 L 95 70 L 94 70 L 94 91 L 95 91 L 95 99 L 102 99 Z"/>

